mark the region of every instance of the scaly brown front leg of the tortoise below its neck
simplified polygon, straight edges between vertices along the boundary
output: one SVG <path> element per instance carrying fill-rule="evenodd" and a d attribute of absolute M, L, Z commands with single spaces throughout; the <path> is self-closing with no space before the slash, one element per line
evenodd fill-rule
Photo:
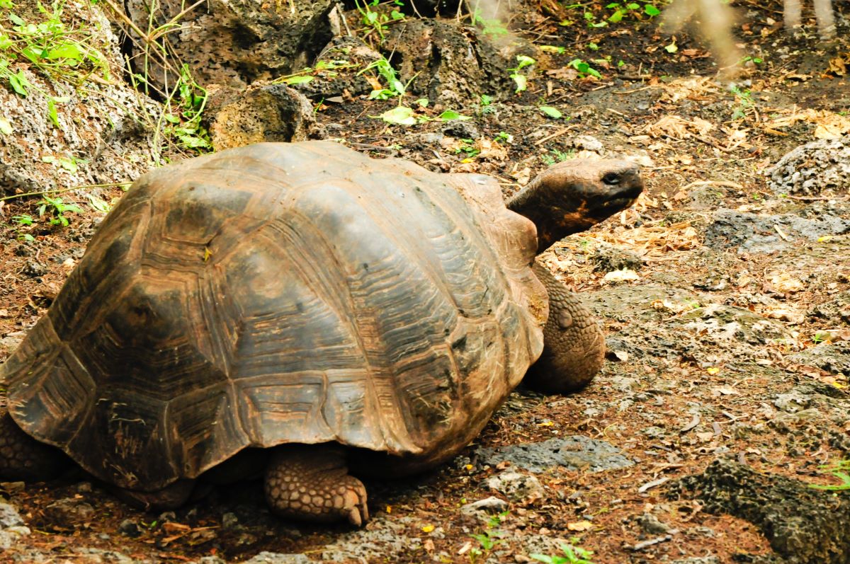
<path fill-rule="evenodd" d="M 602 368 L 605 338 L 578 296 L 535 262 L 534 273 L 549 295 L 549 319 L 543 327 L 543 353 L 525 376 L 541 392 L 575 392 Z"/>

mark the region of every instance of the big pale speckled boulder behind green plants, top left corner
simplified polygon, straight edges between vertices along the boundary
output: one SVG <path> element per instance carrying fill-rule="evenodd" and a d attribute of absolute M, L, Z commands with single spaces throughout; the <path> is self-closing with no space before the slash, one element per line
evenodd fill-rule
<path fill-rule="evenodd" d="M 99 4 L 66 5 L 63 20 L 68 19 L 94 33 L 90 44 L 107 65 L 122 67 L 120 42 Z M 31 87 L 26 96 L 0 88 L 0 107 L 12 128 L 0 135 L 0 196 L 123 182 L 150 167 L 149 139 L 139 117 L 158 115 L 158 107 L 127 86 L 120 74 L 111 76 L 111 84 L 87 81 L 77 88 L 29 67 L 17 71 Z M 58 126 L 48 118 L 48 104 L 54 105 Z"/>

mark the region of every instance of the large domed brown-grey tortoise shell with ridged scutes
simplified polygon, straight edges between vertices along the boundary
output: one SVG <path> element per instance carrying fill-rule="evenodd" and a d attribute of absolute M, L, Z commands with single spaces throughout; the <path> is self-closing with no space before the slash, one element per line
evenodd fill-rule
<path fill-rule="evenodd" d="M 436 463 L 541 353 L 535 251 L 492 178 L 230 149 L 139 178 L 0 375 L 24 431 L 122 488 L 281 443 Z"/>

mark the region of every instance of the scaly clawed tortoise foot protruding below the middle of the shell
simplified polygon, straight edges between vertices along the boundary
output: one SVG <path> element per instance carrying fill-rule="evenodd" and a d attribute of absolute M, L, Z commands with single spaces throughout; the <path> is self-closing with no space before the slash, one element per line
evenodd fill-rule
<path fill-rule="evenodd" d="M 348 476 L 342 448 L 294 445 L 277 449 L 269 461 L 265 493 L 275 513 L 287 518 L 360 527 L 369 519 L 366 489 Z"/>

